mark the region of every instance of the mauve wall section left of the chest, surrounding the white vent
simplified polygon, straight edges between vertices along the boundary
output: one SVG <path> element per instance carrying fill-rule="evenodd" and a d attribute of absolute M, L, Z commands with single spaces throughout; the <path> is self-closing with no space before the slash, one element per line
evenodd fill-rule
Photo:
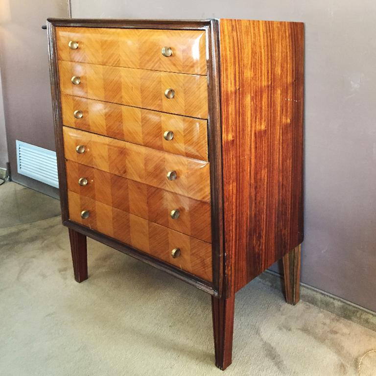
<path fill-rule="evenodd" d="M 47 32 L 41 29 L 47 17 L 68 17 L 67 0 L 0 1 L 0 67 L 12 179 L 57 197 L 56 188 L 18 174 L 16 157 L 16 140 L 55 150 Z"/>

